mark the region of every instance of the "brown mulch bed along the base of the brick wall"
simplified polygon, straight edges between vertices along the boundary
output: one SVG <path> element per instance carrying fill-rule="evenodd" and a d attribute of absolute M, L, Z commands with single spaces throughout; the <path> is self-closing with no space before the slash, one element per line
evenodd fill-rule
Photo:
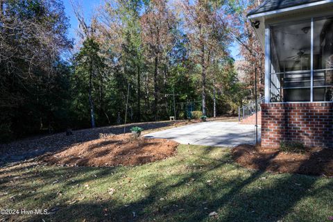
<path fill-rule="evenodd" d="M 308 148 L 304 153 L 284 153 L 279 148 L 240 145 L 232 149 L 232 156 L 250 169 L 333 176 L 333 149 Z"/>

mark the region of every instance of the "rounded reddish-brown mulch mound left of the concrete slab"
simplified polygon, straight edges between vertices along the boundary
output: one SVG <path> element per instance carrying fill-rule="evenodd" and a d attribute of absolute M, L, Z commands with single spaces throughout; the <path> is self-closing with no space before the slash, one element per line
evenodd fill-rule
<path fill-rule="evenodd" d="M 178 143 L 167 139 L 132 139 L 130 134 L 76 144 L 59 153 L 44 155 L 41 162 L 67 166 L 126 166 L 162 160 L 176 154 Z"/>

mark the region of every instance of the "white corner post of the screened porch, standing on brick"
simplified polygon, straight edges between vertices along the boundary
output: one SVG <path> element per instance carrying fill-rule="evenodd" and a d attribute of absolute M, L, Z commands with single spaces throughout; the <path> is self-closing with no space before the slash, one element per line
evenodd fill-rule
<path fill-rule="evenodd" d="M 266 26 L 265 28 L 265 103 L 269 103 L 269 87 L 270 87 L 270 66 L 271 66 L 271 42 L 270 42 L 270 28 Z"/>

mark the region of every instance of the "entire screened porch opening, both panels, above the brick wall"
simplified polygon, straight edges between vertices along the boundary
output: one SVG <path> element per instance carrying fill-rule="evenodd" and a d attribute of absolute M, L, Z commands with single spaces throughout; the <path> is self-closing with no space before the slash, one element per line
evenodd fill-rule
<path fill-rule="evenodd" d="M 333 17 L 270 27 L 268 99 L 333 101 Z"/>

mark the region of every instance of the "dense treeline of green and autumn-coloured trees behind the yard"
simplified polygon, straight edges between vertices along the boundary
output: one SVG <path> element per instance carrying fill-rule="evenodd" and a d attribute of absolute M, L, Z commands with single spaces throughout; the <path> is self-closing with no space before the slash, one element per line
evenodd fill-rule
<path fill-rule="evenodd" d="M 258 3 L 105 0 L 89 19 L 73 3 L 74 44 L 62 1 L 0 0 L 0 141 L 123 123 L 126 104 L 130 122 L 236 114 L 254 69 L 263 86 Z"/>

